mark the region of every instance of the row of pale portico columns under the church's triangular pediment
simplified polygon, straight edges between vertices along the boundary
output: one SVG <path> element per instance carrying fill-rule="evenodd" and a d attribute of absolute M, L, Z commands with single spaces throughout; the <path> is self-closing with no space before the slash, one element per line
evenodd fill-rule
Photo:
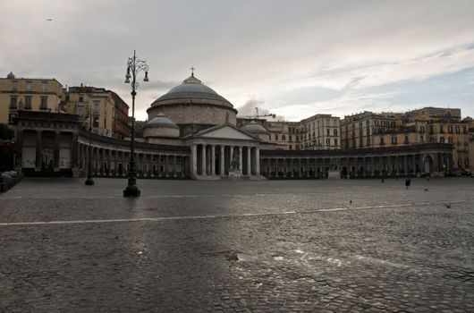
<path fill-rule="evenodd" d="M 260 174 L 258 147 L 196 143 L 191 145 L 192 177 L 226 176 L 231 172 L 244 176 Z"/>

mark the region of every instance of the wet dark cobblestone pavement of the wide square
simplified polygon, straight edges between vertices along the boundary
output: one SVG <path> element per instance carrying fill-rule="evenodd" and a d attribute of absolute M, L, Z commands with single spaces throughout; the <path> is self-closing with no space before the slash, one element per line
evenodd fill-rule
<path fill-rule="evenodd" d="M 473 312 L 474 180 L 25 179 L 0 312 Z"/>

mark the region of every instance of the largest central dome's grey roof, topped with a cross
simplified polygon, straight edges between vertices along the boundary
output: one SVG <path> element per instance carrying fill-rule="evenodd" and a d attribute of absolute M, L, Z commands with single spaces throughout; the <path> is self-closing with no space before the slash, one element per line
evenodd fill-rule
<path fill-rule="evenodd" d="M 160 101 L 174 100 L 180 98 L 200 98 L 217 100 L 223 101 L 226 104 L 231 105 L 231 103 L 227 101 L 224 97 L 217 94 L 216 91 L 214 91 L 213 89 L 208 88 L 201 82 L 201 80 L 198 80 L 196 77 L 194 77 L 194 74 L 192 74 L 189 78 L 183 80 L 181 85 L 174 87 L 174 89 L 171 89 L 170 91 L 165 93 L 165 95 L 158 97 L 157 100 L 155 100 L 155 102 L 153 102 L 151 106 Z"/>

